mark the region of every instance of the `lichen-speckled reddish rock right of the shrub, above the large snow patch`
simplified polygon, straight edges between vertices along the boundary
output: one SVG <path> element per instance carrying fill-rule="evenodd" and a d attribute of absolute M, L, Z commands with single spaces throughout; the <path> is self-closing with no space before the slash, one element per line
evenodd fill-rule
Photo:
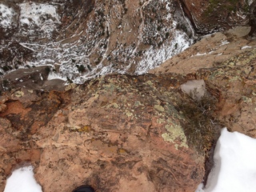
<path fill-rule="evenodd" d="M 208 76 L 222 94 L 219 118 L 229 130 L 236 130 L 253 138 L 256 138 L 256 118 L 253 115 L 256 109 L 255 64 L 256 49 L 230 58 Z"/>

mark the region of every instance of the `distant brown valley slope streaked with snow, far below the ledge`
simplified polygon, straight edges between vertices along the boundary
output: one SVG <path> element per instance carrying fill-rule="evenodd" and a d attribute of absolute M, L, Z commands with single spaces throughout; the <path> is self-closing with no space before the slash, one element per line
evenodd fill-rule
<path fill-rule="evenodd" d="M 176 1 L 5 0 L 0 14 L 0 75 L 49 65 L 81 83 L 145 72 L 194 38 Z"/>

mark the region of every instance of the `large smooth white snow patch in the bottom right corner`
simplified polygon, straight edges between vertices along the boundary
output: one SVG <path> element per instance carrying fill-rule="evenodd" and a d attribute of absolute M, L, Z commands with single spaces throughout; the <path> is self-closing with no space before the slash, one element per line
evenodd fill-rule
<path fill-rule="evenodd" d="M 255 192 L 255 162 L 256 139 L 224 128 L 214 151 L 214 168 L 206 187 L 199 186 L 196 192 Z"/>

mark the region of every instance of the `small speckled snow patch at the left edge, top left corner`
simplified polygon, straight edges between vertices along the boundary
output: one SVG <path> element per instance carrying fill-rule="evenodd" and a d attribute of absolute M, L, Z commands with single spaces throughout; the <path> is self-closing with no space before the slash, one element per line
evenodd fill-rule
<path fill-rule="evenodd" d="M 14 14 L 15 12 L 12 8 L 0 4 L 0 26 L 2 26 L 2 28 L 10 27 Z"/>

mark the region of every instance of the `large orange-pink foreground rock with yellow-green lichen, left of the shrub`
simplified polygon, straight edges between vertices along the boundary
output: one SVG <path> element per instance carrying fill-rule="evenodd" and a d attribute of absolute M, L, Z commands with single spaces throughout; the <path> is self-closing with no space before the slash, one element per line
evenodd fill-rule
<path fill-rule="evenodd" d="M 10 170 L 28 161 L 44 191 L 83 183 L 98 191 L 194 191 L 205 153 L 185 131 L 183 82 L 180 75 L 110 75 L 64 92 L 6 92 L 1 190 Z"/>

